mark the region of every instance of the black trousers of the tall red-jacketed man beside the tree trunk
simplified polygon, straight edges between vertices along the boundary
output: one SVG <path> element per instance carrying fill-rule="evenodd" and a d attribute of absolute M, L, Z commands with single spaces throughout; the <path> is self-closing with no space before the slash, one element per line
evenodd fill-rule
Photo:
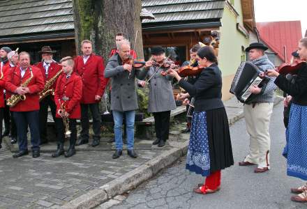
<path fill-rule="evenodd" d="M 89 109 L 93 118 L 93 139 L 100 140 L 101 116 L 99 103 L 81 104 L 81 127 L 80 137 L 82 140 L 89 140 Z"/>

